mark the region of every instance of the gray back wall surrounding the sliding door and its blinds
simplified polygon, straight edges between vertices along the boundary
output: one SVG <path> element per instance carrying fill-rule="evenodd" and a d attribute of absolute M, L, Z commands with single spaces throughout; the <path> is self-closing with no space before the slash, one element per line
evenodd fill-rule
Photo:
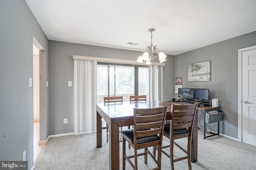
<path fill-rule="evenodd" d="M 49 41 L 49 134 L 74 132 L 74 83 L 73 55 L 136 60 L 141 52 L 60 41 Z M 164 100 L 174 96 L 174 57 L 168 56 L 164 66 Z M 63 124 L 68 118 L 68 124 Z"/>

